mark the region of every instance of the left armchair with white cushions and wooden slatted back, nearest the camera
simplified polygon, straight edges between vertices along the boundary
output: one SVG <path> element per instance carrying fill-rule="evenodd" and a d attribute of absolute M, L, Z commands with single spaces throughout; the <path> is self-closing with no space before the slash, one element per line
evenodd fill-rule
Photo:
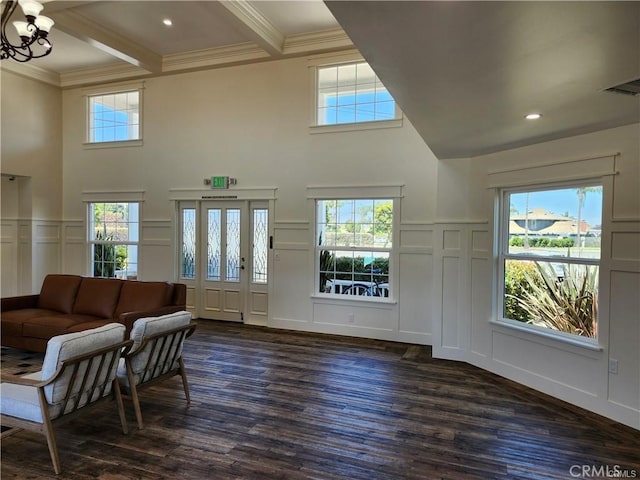
<path fill-rule="evenodd" d="M 122 431 L 128 433 L 116 371 L 125 327 L 110 323 L 99 328 L 58 335 L 47 343 L 42 370 L 24 377 L 2 375 L 0 413 L 7 436 L 26 429 L 44 434 L 56 474 L 60 459 L 53 424 L 91 410 L 115 397 Z"/>

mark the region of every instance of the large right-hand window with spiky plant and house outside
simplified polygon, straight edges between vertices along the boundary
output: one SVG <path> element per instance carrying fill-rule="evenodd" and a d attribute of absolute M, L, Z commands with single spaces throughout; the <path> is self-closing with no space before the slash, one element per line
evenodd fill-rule
<path fill-rule="evenodd" d="M 500 192 L 500 317 L 561 336 L 598 336 L 602 183 Z"/>

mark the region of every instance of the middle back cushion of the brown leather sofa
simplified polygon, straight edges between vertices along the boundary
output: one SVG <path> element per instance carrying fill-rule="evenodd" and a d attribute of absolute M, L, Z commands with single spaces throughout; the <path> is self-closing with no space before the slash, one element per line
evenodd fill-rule
<path fill-rule="evenodd" d="M 115 278 L 83 278 L 73 313 L 113 318 L 121 288 L 122 280 Z"/>

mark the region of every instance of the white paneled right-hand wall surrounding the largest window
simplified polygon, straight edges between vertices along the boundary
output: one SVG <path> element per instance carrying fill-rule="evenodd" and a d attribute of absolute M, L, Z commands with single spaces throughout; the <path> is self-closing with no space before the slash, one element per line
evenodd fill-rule
<path fill-rule="evenodd" d="M 532 145 L 438 170 L 434 354 L 468 361 L 550 395 L 640 428 L 640 126 Z M 619 153 L 566 168 L 536 165 Z M 614 158 L 614 160 L 612 160 Z M 598 336 L 601 350 L 490 323 L 496 318 L 493 210 L 495 177 L 605 179 Z M 526 167 L 518 172 L 518 169 Z M 508 170 L 511 173 L 497 173 Z M 524 172 L 524 173 L 523 173 Z M 542 172 L 542 173 L 541 173 Z M 464 197 L 460 199 L 459 193 Z M 466 301 L 460 302 L 460 298 Z M 619 362 L 608 372 L 609 359 Z"/>

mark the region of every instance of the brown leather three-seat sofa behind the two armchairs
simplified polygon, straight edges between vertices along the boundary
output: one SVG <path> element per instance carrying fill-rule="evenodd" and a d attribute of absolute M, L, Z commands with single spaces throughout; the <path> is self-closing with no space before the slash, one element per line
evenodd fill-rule
<path fill-rule="evenodd" d="M 44 352 L 56 335 L 184 310 L 182 283 L 47 275 L 40 293 L 2 299 L 2 346 Z"/>

